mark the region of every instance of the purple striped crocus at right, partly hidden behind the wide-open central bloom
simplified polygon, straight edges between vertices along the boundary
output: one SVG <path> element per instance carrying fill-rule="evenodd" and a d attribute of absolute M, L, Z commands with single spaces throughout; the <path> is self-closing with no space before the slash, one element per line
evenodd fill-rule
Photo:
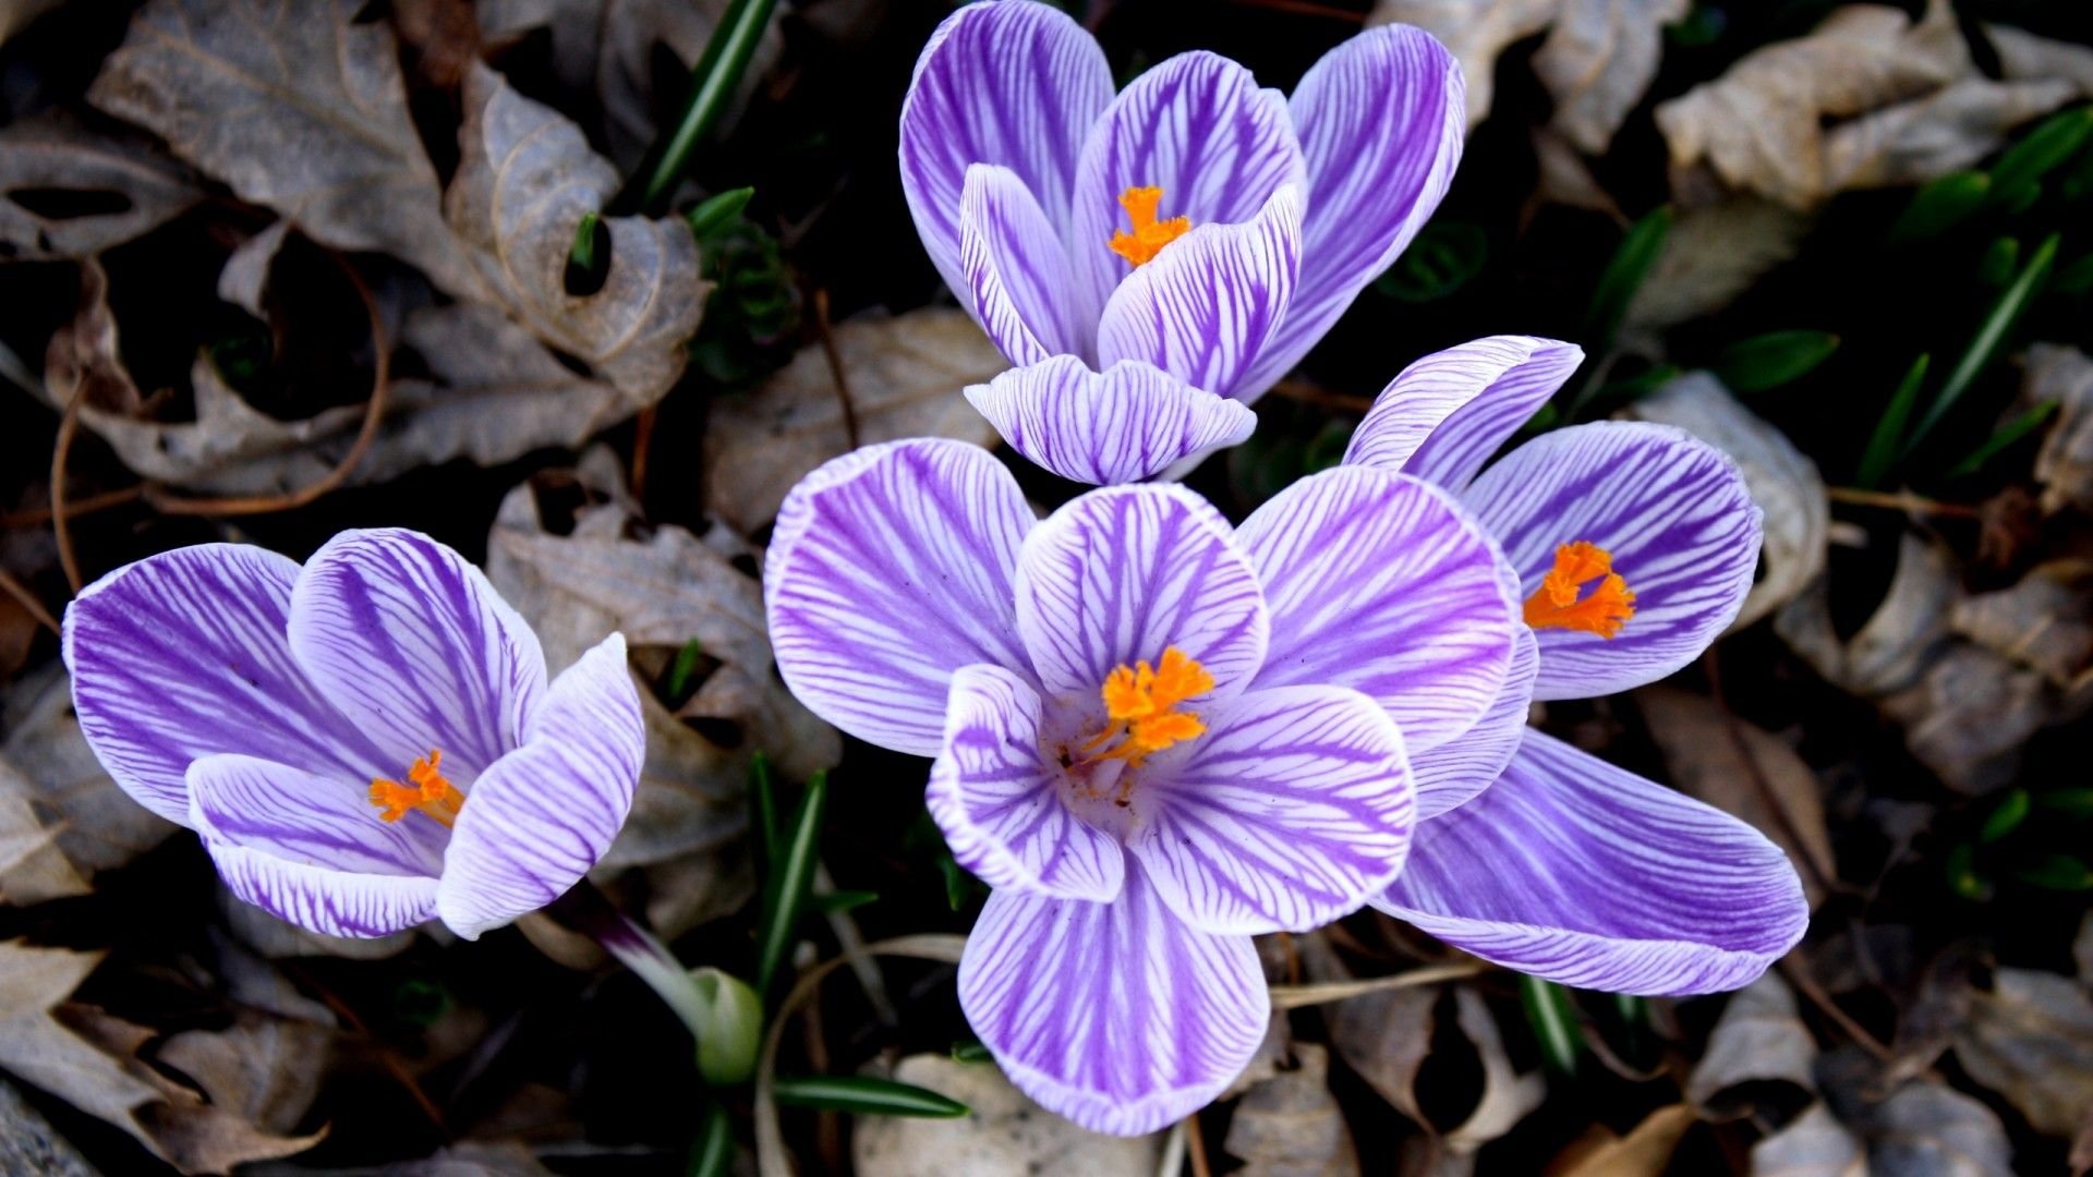
<path fill-rule="evenodd" d="M 1553 339 L 1463 343 L 1398 375 L 1352 436 L 1346 463 L 1427 480 L 1473 511 L 1517 570 L 1530 628 L 1490 718 L 1457 754 L 1419 758 L 1440 787 L 1375 907 L 1580 989 L 1737 989 L 1808 924 L 1787 857 L 1526 727 L 1528 697 L 1626 691 L 1697 658 L 1758 563 L 1758 507 L 1735 463 L 1681 429 L 1576 425 L 1484 469 L 1580 360 Z"/>

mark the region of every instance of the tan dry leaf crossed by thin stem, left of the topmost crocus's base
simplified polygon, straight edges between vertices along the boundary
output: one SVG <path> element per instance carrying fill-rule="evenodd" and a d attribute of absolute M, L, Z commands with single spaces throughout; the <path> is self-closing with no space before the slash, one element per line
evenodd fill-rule
<path fill-rule="evenodd" d="M 961 390 L 1009 364 L 965 312 L 860 314 L 835 327 L 833 343 L 858 444 L 900 438 L 994 444 L 996 431 Z M 714 402 L 705 429 L 707 505 L 745 534 L 768 524 L 802 475 L 850 452 L 841 398 L 827 350 L 816 343 L 800 348 L 749 396 Z"/>

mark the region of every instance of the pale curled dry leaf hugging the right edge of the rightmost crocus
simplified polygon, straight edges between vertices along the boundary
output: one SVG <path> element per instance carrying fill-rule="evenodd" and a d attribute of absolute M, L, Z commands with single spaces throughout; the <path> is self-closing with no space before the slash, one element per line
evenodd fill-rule
<path fill-rule="evenodd" d="M 1635 415 L 1727 452 L 1743 469 L 1752 503 L 1764 513 L 1760 578 L 1743 599 L 1731 630 L 1792 601 L 1825 565 L 1831 509 L 1817 463 L 1785 434 L 1760 421 L 1710 373 L 1687 373 L 1635 404 Z"/>

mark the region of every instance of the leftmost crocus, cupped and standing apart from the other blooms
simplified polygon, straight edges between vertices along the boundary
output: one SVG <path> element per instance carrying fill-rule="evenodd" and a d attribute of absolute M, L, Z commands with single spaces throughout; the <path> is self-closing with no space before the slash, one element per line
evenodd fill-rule
<path fill-rule="evenodd" d="M 119 568 L 67 607 L 65 664 L 117 785 L 329 936 L 544 907 L 609 848 L 647 743 L 622 635 L 546 685 L 488 578 L 404 530 L 303 568 L 247 545 Z"/>

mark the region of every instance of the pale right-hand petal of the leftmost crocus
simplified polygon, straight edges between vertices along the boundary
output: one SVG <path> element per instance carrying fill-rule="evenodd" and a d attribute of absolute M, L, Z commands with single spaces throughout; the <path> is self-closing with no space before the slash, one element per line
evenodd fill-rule
<path fill-rule="evenodd" d="M 613 632 L 553 679 L 523 748 L 465 798 L 435 892 L 444 924 L 473 940 L 582 882 L 626 823 L 645 760 L 640 693 Z"/>

